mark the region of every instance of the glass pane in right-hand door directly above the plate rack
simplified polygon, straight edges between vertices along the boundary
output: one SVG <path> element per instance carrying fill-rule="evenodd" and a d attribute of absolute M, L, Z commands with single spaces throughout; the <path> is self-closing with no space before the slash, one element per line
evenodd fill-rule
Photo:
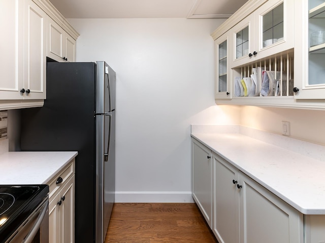
<path fill-rule="evenodd" d="M 283 3 L 263 16 L 263 47 L 282 41 L 283 30 Z"/>

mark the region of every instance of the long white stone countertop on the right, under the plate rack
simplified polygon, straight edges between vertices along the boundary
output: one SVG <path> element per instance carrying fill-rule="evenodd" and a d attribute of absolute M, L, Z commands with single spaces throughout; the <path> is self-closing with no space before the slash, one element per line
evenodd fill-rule
<path fill-rule="evenodd" d="M 239 133 L 191 136 L 299 212 L 325 214 L 324 161 Z"/>

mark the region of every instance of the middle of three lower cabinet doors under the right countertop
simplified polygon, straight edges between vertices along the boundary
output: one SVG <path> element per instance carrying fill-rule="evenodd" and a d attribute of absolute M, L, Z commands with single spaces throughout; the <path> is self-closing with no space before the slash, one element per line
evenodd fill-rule
<path fill-rule="evenodd" d="M 238 170 L 216 154 L 213 154 L 213 163 L 213 233 L 219 243 L 239 242 Z"/>

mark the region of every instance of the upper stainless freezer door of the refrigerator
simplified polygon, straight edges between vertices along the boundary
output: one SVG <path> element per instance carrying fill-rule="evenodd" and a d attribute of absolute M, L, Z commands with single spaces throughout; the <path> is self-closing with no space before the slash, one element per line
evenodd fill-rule
<path fill-rule="evenodd" d="M 96 62 L 96 113 L 115 109 L 115 71 L 106 62 Z"/>

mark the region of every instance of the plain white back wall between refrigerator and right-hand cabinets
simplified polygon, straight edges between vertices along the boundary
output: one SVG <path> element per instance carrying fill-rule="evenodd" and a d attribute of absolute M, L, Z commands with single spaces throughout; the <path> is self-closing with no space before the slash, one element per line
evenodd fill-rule
<path fill-rule="evenodd" d="M 190 124 L 238 124 L 214 103 L 220 19 L 69 19 L 77 61 L 117 73 L 116 201 L 191 201 Z"/>

